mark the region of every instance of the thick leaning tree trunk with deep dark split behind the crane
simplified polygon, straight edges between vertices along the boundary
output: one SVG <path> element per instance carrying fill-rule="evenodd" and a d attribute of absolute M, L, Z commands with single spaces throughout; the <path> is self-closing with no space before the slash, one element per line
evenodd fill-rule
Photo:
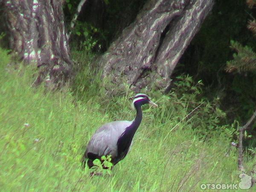
<path fill-rule="evenodd" d="M 108 93 L 124 90 L 123 82 L 136 92 L 142 88 L 166 89 L 177 62 L 213 3 L 149 0 L 99 60 L 104 67 L 103 78 L 114 84 L 105 84 Z"/>

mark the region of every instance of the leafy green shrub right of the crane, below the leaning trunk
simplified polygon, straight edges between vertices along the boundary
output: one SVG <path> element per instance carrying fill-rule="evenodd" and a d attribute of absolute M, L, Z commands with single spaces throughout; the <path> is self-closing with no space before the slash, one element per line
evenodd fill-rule
<path fill-rule="evenodd" d="M 236 129 L 223 125 L 226 114 L 219 108 L 219 99 L 209 102 L 202 97 L 201 80 L 195 83 L 191 76 L 181 75 L 177 77 L 174 86 L 169 96 L 165 96 L 167 100 L 161 101 L 164 105 L 157 118 L 161 119 L 161 123 L 170 118 L 172 121 L 175 119 L 175 128 L 180 124 L 189 126 L 198 136 L 206 139 L 218 134 L 224 134 L 227 138 L 233 137 Z M 172 110 L 179 114 L 176 118 L 170 116 Z"/>

